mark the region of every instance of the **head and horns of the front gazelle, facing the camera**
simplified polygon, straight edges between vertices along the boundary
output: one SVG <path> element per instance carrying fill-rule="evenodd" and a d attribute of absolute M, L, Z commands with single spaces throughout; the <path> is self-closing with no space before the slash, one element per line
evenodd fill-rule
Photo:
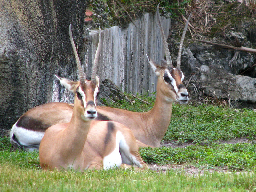
<path fill-rule="evenodd" d="M 69 91 L 75 94 L 75 97 L 74 97 L 75 105 L 76 103 L 79 103 L 79 105 L 76 105 L 78 113 L 81 114 L 81 118 L 84 121 L 89 121 L 97 117 L 96 95 L 99 91 L 100 82 L 99 82 L 99 77 L 96 75 L 96 70 L 97 70 L 97 63 L 98 63 L 98 57 L 99 57 L 99 49 L 101 45 L 101 30 L 99 35 L 99 43 L 98 43 L 98 47 L 96 50 L 94 63 L 92 67 L 91 81 L 86 80 L 85 74 L 83 73 L 82 66 L 81 66 L 78 53 L 76 51 L 76 46 L 73 40 L 73 36 L 72 36 L 71 24 L 69 25 L 69 37 L 70 37 L 73 52 L 76 58 L 79 81 L 74 82 L 69 79 L 61 78 L 56 75 L 55 76 L 57 77 L 57 79 L 59 79 L 60 83 L 63 86 L 65 86 Z"/>

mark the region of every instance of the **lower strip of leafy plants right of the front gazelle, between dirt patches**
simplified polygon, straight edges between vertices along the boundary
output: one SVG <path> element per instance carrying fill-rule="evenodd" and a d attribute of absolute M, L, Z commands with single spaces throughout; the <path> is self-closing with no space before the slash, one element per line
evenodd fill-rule
<path fill-rule="evenodd" d="M 141 148 L 140 154 L 146 163 L 186 163 L 205 169 L 228 167 L 231 170 L 251 170 L 256 166 L 256 145 L 249 143 Z"/>

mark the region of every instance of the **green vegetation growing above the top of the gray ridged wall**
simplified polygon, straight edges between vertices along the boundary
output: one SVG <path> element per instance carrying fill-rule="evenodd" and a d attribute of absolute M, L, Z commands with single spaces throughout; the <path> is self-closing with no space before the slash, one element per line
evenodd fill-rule
<path fill-rule="evenodd" d="M 88 1 L 87 8 L 94 12 L 98 17 L 93 17 L 95 23 L 106 25 L 126 26 L 133 22 L 143 12 L 156 12 L 156 7 L 160 3 L 160 12 L 166 17 L 177 17 L 184 14 L 185 7 L 189 1 L 169 1 L 169 0 L 96 0 Z M 104 22 L 101 22 L 105 20 Z M 109 27 L 109 26 L 106 26 Z"/>

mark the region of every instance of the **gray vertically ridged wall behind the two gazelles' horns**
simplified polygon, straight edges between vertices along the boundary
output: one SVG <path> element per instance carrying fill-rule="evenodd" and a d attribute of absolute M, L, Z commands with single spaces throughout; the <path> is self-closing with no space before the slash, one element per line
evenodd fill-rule
<path fill-rule="evenodd" d="M 146 13 L 134 24 L 130 23 L 125 29 L 114 26 L 102 31 L 97 74 L 101 80 L 111 79 L 126 92 L 154 92 L 156 75 L 148 63 L 146 53 L 156 62 L 164 58 L 164 47 L 159 27 L 156 25 L 156 15 Z M 164 33 L 168 36 L 170 19 L 163 17 L 162 24 Z M 99 32 L 90 31 L 89 36 L 92 37 L 92 44 L 85 53 L 88 75 L 91 73 Z"/>

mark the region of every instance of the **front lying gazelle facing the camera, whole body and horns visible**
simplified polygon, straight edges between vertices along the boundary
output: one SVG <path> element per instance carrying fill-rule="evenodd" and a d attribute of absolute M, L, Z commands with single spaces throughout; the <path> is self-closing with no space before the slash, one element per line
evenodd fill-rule
<path fill-rule="evenodd" d="M 69 36 L 76 57 L 79 81 L 74 82 L 56 76 L 62 85 L 75 94 L 72 117 L 69 123 L 49 127 L 39 147 L 39 161 L 43 169 L 108 169 L 136 164 L 146 168 L 136 139 L 131 130 L 113 121 L 92 121 L 97 117 L 96 94 L 99 77 L 96 75 L 99 43 L 92 67 L 92 78 L 84 77 L 81 63 L 73 41 L 71 25 Z M 123 164 L 123 165 L 121 165 Z M 128 164 L 128 165 L 126 165 Z"/>

